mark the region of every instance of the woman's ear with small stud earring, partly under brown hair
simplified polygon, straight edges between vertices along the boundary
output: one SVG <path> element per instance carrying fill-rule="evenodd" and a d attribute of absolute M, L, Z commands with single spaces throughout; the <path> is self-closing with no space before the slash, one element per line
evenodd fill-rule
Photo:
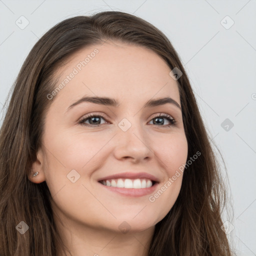
<path fill-rule="evenodd" d="M 28 179 L 33 183 L 41 183 L 45 180 L 43 165 L 43 152 L 41 149 L 36 154 L 36 160 L 32 163 L 31 171 L 28 175 Z M 36 176 L 33 176 L 35 172 L 38 172 Z"/>

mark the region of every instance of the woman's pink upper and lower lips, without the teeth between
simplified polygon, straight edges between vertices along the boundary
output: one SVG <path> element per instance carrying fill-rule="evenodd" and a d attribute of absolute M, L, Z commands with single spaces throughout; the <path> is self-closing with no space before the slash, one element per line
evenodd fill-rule
<path fill-rule="evenodd" d="M 148 178 L 153 181 L 153 185 L 151 187 L 145 187 L 145 188 L 124 188 L 124 187 L 106 186 L 99 182 L 99 181 L 106 180 L 106 179 L 116 179 L 116 178 L 123 178 L 123 179 L 125 179 L 125 178 L 129 178 L 129 179 Z M 156 189 L 157 185 L 159 184 L 159 180 L 155 176 L 153 176 L 149 173 L 146 173 L 146 172 L 117 173 L 117 174 L 105 176 L 103 178 L 98 179 L 97 181 L 101 186 L 105 187 L 105 189 L 107 189 L 109 191 L 117 192 L 121 195 L 132 196 L 132 197 L 139 197 L 139 196 L 150 194 Z"/>

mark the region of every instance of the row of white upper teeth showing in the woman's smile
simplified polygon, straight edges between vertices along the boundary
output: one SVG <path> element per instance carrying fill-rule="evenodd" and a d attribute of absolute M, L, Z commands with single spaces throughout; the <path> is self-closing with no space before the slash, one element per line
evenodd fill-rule
<path fill-rule="evenodd" d="M 113 186 L 113 187 L 124 187 L 124 188 L 145 188 L 145 187 L 152 186 L 152 181 L 147 178 L 143 178 L 143 179 L 125 178 L 124 180 L 122 178 L 117 178 L 117 179 L 106 179 L 100 182 L 103 185 Z"/>

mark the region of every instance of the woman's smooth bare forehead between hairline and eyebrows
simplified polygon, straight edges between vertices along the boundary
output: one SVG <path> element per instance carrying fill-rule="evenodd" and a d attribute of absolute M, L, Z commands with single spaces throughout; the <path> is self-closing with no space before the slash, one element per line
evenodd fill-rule
<path fill-rule="evenodd" d="M 178 85 L 166 62 L 143 46 L 105 42 L 82 48 L 55 73 L 58 97 L 76 99 L 83 94 L 113 96 L 120 100 L 172 96 L 179 102 Z M 70 74 L 72 78 L 70 78 Z M 65 98 L 65 99 L 64 99 Z"/>

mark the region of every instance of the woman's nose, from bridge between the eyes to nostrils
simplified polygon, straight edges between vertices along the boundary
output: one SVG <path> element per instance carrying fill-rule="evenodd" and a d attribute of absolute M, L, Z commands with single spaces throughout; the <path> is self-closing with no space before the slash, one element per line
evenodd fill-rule
<path fill-rule="evenodd" d="M 119 160 L 130 159 L 134 163 L 149 160 L 154 155 L 149 137 L 139 124 L 132 124 L 126 131 L 117 128 L 113 153 Z"/>

